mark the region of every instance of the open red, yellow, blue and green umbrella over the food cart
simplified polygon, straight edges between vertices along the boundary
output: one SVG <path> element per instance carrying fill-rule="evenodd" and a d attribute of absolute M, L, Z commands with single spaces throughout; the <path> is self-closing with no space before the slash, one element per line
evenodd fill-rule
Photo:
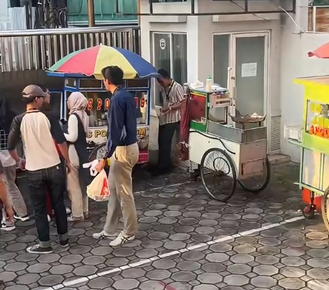
<path fill-rule="evenodd" d="M 101 80 L 101 70 L 108 66 L 121 67 L 126 80 L 157 75 L 156 68 L 138 54 L 106 45 L 74 51 L 53 64 L 49 71 L 94 75 Z"/>

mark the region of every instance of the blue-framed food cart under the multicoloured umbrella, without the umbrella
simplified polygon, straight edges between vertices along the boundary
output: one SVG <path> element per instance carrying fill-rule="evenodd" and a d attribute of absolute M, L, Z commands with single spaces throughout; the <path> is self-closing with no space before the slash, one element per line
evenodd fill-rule
<path fill-rule="evenodd" d="M 86 77 L 86 75 L 77 75 L 69 73 L 47 72 L 51 77 L 64 77 L 64 89 L 60 104 L 60 118 L 68 119 L 68 110 L 66 99 L 71 93 L 80 92 L 88 99 L 89 131 L 88 131 L 88 149 L 90 155 L 99 158 L 104 152 L 107 134 L 106 112 L 110 108 L 111 93 L 108 92 L 101 80 L 95 77 Z M 135 78 L 125 80 L 123 88 L 134 95 L 137 117 L 137 138 L 139 147 L 138 163 L 149 162 L 149 114 L 150 114 L 150 88 L 151 80 L 149 78 Z M 98 155 L 97 155 L 98 154 Z"/>

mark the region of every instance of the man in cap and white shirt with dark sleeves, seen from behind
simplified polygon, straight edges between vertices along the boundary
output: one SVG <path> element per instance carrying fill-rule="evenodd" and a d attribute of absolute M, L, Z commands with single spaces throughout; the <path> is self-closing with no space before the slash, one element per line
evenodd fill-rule
<path fill-rule="evenodd" d="M 46 209 L 46 189 L 49 189 L 51 201 L 56 215 L 57 231 L 62 247 L 69 246 L 67 233 L 66 210 L 64 206 L 60 157 L 53 139 L 58 143 L 60 152 L 66 160 L 66 168 L 70 172 L 69 153 L 66 139 L 56 119 L 40 111 L 47 97 L 39 86 L 29 85 L 23 90 L 23 102 L 26 112 L 15 117 L 8 136 L 8 150 L 14 160 L 20 158 L 16 153 L 16 145 L 23 141 L 25 152 L 25 169 L 34 207 L 38 245 L 27 247 L 32 254 L 49 254 L 53 252 L 49 237 L 49 223 Z"/>

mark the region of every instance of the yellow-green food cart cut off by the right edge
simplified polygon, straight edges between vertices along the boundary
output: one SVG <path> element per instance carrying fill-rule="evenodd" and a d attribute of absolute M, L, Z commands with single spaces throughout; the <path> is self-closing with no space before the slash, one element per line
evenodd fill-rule
<path fill-rule="evenodd" d="M 284 130 L 289 143 L 301 148 L 300 189 L 306 218 L 322 213 L 329 230 L 329 75 L 294 81 L 305 88 L 303 124 Z"/>

